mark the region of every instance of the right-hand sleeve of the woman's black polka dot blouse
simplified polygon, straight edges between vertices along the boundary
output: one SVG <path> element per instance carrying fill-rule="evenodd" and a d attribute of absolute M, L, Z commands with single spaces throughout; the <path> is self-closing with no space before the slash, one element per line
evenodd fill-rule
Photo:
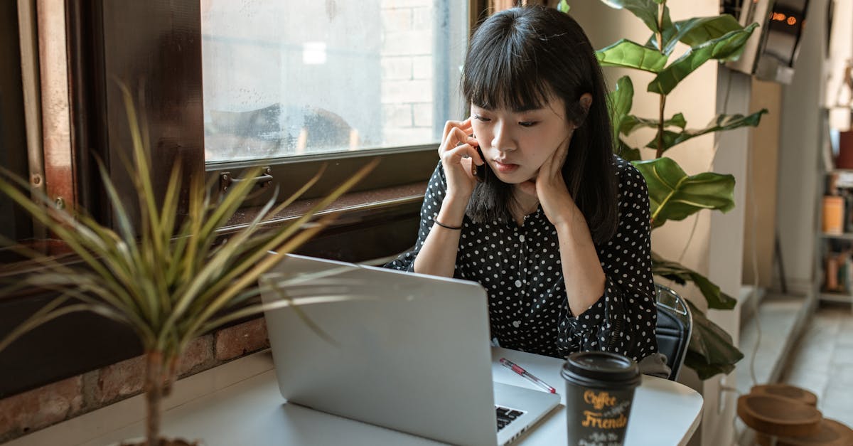
<path fill-rule="evenodd" d="M 604 295 L 577 317 L 560 321 L 562 351 L 602 350 L 640 361 L 658 349 L 646 180 L 626 162 L 620 168 L 619 224 L 599 246 Z"/>

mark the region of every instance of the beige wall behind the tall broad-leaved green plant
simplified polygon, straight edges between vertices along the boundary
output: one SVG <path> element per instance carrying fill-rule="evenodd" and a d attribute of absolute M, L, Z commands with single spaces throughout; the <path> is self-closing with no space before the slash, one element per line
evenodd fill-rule
<path fill-rule="evenodd" d="M 618 38 L 631 38 L 645 42 L 650 31 L 627 11 L 610 9 L 598 1 L 570 2 L 572 15 L 584 26 L 593 46 L 597 49 L 617 41 Z M 717 0 L 697 0 L 693 2 L 671 2 L 670 15 L 673 21 L 693 16 L 717 15 Z M 680 56 L 686 46 L 679 44 L 674 57 Z M 646 85 L 653 76 L 649 73 L 606 68 L 608 84 L 613 85 L 624 73 L 629 73 L 634 82 L 635 98 L 632 112 L 645 117 L 658 116 L 659 99 L 657 95 L 646 93 Z M 728 104 L 726 93 L 728 90 Z M 718 68 L 713 62 L 706 63 L 678 85 L 667 97 L 667 117 L 682 112 L 688 120 L 688 128 L 704 127 L 717 113 L 725 109 L 727 113 L 746 113 L 749 104 L 749 77 L 740 73 L 731 73 Z M 637 132 L 628 141 L 633 146 L 645 145 L 653 132 Z M 671 260 L 681 261 L 687 267 L 705 273 L 709 279 L 717 282 L 722 290 L 731 296 L 738 296 L 740 290 L 741 252 L 743 246 L 744 224 L 744 185 L 746 178 L 746 148 L 749 133 L 745 130 L 728 132 L 719 137 L 719 150 L 715 150 L 714 135 L 693 138 L 685 144 L 669 150 L 667 156 L 676 160 L 688 173 L 695 174 L 714 170 L 720 173 L 732 173 L 737 179 L 735 202 L 738 203 L 728 214 L 718 212 L 700 212 L 683 221 L 670 221 L 653 233 L 653 250 Z M 652 158 L 645 151 L 644 158 Z M 713 244 L 711 244 L 713 241 Z M 665 285 L 667 284 L 664 281 Z M 686 289 L 676 287 L 692 302 L 703 307 L 704 298 L 693 286 Z M 711 312 L 711 320 L 726 329 L 738 339 L 739 312 Z M 727 381 L 717 375 L 704 382 L 696 378 L 692 370 L 682 373 L 682 382 L 693 386 L 705 397 L 705 411 L 699 432 L 694 435 L 693 443 L 706 445 L 729 444 L 734 438 L 732 418 L 734 417 L 734 398 L 719 396 L 721 385 L 734 385 L 734 375 Z M 722 408 L 722 410 L 720 410 Z"/>

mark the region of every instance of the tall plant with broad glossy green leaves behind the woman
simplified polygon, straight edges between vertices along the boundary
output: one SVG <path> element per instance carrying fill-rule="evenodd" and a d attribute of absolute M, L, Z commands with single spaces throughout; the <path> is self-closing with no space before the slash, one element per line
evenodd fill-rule
<path fill-rule="evenodd" d="M 666 97 L 705 62 L 738 58 L 757 24 L 740 26 L 731 15 L 693 17 L 674 22 L 670 19 L 666 0 L 601 1 L 615 9 L 627 9 L 652 32 L 644 43 L 623 38 L 596 51 L 602 66 L 630 68 L 655 76 L 648 83 L 647 91 L 659 96 L 657 116 L 631 114 L 634 85 L 628 76 L 618 79 L 616 88 L 608 97 L 613 141 L 616 143 L 614 150 L 631 161 L 646 179 L 652 228 L 659 228 L 668 220 L 684 220 L 703 209 L 728 212 L 734 208 L 734 176 L 713 172 L 688 175 L 676 161 L 666 156 L 666 151 L 706 133 L 757 126 L 767 110 L 746 116 L 719 114 L 705 127 L 694 129 L 688 128 L 684 114 L 668 114 Z M 568 12 L 569 5 L 566 0 L 561 0 L 558 8 Z M 678 42 L 689 47 L 680 56 L 673 54 Z M 654 150 L 655 155 L 651 159 L 643 160 L 641 150 L 631 147 L 624 139 L 641 128 L 656 131 L 645 146 Z M 736 303 L 732 296 L 722 292 L 702 274 L 655 253 L 652 254 L 652 273 L 680 285 L 693 282 L 705 296 L 708 308 L 732 309 Z M 700 379 L 711 378 L 717 373 L 731 373 L 743 354 L 734 346 L 728 333 L 708 320 L 692 302 L 688 301 L 688 304 L 693 312 L 693 335 L 685 364 L 693 368 Z"/>

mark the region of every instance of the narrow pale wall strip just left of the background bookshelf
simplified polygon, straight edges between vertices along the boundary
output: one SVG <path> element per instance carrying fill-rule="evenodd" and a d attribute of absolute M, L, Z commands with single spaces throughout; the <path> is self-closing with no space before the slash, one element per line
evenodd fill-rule
<path fill-rule="evenodd" d="M 794 292 L 812 290 L 815 269 L 815 200 L 818 178 L 818 147 L 821 144 L 821 97 L 826 54 L 827 0 L 809 2 L 808 26 L 791 85 L 782 92 L 782 120 L 779 153 L 779 225 L 786 282 Z M 778 283 L 778 271 L 774 272 Z"/>

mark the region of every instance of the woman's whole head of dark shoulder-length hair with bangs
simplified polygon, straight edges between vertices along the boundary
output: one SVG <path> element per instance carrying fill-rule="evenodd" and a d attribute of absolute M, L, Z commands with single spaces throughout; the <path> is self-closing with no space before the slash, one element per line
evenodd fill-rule
<path fill-rule="evenodd" d="M 595 243 L 618 226 L 617 179 L 606 85 L 595 50 L 577 21 L 556 9 L 525 7 L 491 15 L 474 32 L 462 70 L 467 101 L 485 109 L 540 109 L 548 97 L 566 103 L 572 135 L 563 178 Z M 592 95 L 589 110 L 580 97 Z M 511 218 L 512 185 L 486 169 L 468 203 L 473 221 Z"/>

